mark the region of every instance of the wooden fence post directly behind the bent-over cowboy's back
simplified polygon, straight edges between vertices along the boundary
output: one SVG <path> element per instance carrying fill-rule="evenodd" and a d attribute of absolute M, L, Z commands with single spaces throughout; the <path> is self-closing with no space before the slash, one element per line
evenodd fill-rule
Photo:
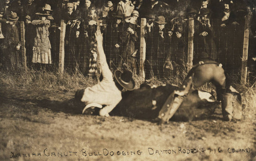
<path fill-rule="evenodd" d="M 188 49 L 187 49 L 187 72 L 191 70 L 193 66 L 193 52 L 194 52 L 194 18 L 188 19 Z"/>

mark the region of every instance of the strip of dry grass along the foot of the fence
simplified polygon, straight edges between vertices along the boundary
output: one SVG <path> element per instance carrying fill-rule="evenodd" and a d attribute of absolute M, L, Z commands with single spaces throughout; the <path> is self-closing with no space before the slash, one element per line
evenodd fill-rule
<path fill-rule="evenodd" d="M 149 85 L 162 85 L 162 84 L 182 84 L 185 78 L 186 72 L 178 73 L 176 76 L 168 79 L 157 79 L 153 77 L 148 80 Z M 99 78 L 99 75 L 97 76 Z M 60 74 L 56 69 L 49 71 L 42 69 L 40 71 L 28 69 L 27 71 L 19 69 L 18 71 L 5 72 L 0 70 L 0 84 L 12 87 L 22 87 L 27 89 L 46 89 L 46 90 L 76 90 L 92 86 L 98 82 L 97 78 L 84 77 L 80 72 L 69 74 L 65 72 Z M 144 83 L 142 77 L 134 74 L 133 79 L 136 82 L 136 88 L 139 88 L 140 84 Z M 234 77 L 232 77 L 234 79 Z M 238 80 L 238 77 L 235 79 Z M 243 104 L 245 110 L 251 113 L 256 109 L 256 84 L 245 84 L 233 83 L 232 86 L 236 88 L 243 96 Z M 214 85 L 207 83 L 201 87 L 206 91 L 214 89 Z M 249 116 L 250 117 L 250 116 Z M 252 117 L 252 116 L 251 116 Z"/>

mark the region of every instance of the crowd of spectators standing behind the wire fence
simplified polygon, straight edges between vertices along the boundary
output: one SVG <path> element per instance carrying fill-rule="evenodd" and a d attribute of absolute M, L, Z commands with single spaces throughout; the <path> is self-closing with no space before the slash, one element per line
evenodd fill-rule
<path fill-rule="evenodd" d="M 1 59 L 7 69 L 20 65 L 19 21 L 25 21 L 28 66 L 58 64 L 64 20 L 65 68 L 84 75 L 99 72 L 97 27 L 110 67 L 137 72 L 140 18 L 146 18 L 147 79 L 185 70 L 188 18 L 194 19 L 195 58 L 206 52 L 226 68 L 239 68 L 248 13 L 243 0 L 4 0 L 0 7 Z"/>

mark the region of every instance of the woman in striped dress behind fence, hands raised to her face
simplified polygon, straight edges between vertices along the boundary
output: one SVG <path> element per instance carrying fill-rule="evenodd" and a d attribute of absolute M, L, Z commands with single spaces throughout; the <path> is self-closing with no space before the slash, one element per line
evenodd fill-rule
<path fill-rule="evenodd" d="M 36 13 L 38 19 L 32 21 L 36 26 L 36 37 L 33 47 L 33 63 L 51 64 L 51 43 L 49 40 L 50 20 L 46 19 L 49 14 Z"/>

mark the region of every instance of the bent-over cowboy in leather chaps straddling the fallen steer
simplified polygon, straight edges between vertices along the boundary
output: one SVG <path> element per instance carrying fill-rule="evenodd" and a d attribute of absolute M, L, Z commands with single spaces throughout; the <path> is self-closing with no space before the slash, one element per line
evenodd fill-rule
<path fill-rule="evenodd" d="M 168 122 L 186 96 L 206 82 L 212 82 L 217 88 L 217 99 L 221 100 L 223 119 L 240 120 L 242 118 L 241 95 L 237 91 L 230 90 L 222 65 L 209 58 L 205 52 L 199 55 L 199 59 L 194 64 L 184 83 L 170 94 L 160 110 L 158 116 L 160 123 Z"/>

